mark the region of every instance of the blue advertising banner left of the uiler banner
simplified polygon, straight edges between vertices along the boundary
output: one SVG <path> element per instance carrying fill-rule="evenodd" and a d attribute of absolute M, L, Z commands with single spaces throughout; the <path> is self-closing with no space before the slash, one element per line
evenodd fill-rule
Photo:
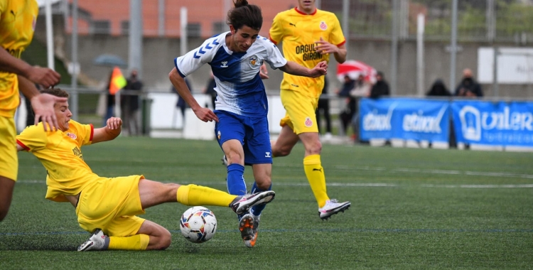
<path fill-rule="evenodd" d="M 431 99 L 360 99 L 360 137 L 448 142 L 450 103 Z"/>

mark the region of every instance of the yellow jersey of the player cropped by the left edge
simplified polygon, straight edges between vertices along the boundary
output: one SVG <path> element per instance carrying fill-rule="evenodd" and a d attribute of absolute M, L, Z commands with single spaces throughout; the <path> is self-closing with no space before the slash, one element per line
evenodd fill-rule
<path fill-rule="evenodd" d="M 0 1 L 0 45 L 16 58 L 31 43 L 39 7 L 36 0 Z M 14 117 L 18 107 L 16 74 L 0 72 L 0 116 Z"/>

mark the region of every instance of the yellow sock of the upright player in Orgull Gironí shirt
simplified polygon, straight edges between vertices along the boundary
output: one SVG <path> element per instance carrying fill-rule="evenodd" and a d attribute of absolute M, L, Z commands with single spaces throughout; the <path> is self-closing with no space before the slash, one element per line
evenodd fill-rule
<path fill-rule="evenodd" d="M 311 155 L 303 158 L 303 171 L 306 171 L 307 180 L 311 185 L 316 202 L 318 202 L 318 207 L 323 207 L 325 201 L 330 198 L 325 191 L 325 175 L 321 165 L 321 156 Z"/>

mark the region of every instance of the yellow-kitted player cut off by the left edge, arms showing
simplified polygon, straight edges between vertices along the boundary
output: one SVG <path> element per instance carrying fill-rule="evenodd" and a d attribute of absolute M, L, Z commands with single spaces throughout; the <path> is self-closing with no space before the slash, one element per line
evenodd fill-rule
<path fill-rule="evenodd" d="M 31 100 L 35 122 L 45 121 L 44 129 L 58 127 L 54 102 L 67 99 L 41 95 L 35 83 L 50 87 L 60 75 L 49 68 L 33 67 L 20 59 L 31 43 L 39 9 L 35 0 L 0 1 L 0 221 L 11 205 L 18 173 L 18 158 L 13 144 L 16 136 L 14 115 L 20 102 L 20 90 Z"/>

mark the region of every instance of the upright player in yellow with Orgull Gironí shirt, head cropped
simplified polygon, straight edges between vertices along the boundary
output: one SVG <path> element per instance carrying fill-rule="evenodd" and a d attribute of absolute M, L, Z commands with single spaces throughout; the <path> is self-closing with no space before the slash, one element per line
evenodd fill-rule
<path fill-rule="evenodd" d="M 315 0 L 298 0 L 298 6 L 280 12 L 270 28 L 270 40 L 283 42 L 287 60 L 304 67 L 314 67 L 329 61 L 333 54 L 338 63 L 346 60 L 345 38 L 335 14 L 316 9 Z M 325 188 L 321 165 L 321 142 L 316 122 L 316 107 L 324 85 L 324 77 L 299 77 L 284 73 L 281 82 L 281 102 L 286 114 L 281 119 L 281 132 L 272 141 L 274 157 L 287 156 L 301 140 L 305 147 L 303 170 L 318 202 L 318 215 L 327 220 L 331 215 L 350 207 L 350 202 L 330 199 Z"/>

